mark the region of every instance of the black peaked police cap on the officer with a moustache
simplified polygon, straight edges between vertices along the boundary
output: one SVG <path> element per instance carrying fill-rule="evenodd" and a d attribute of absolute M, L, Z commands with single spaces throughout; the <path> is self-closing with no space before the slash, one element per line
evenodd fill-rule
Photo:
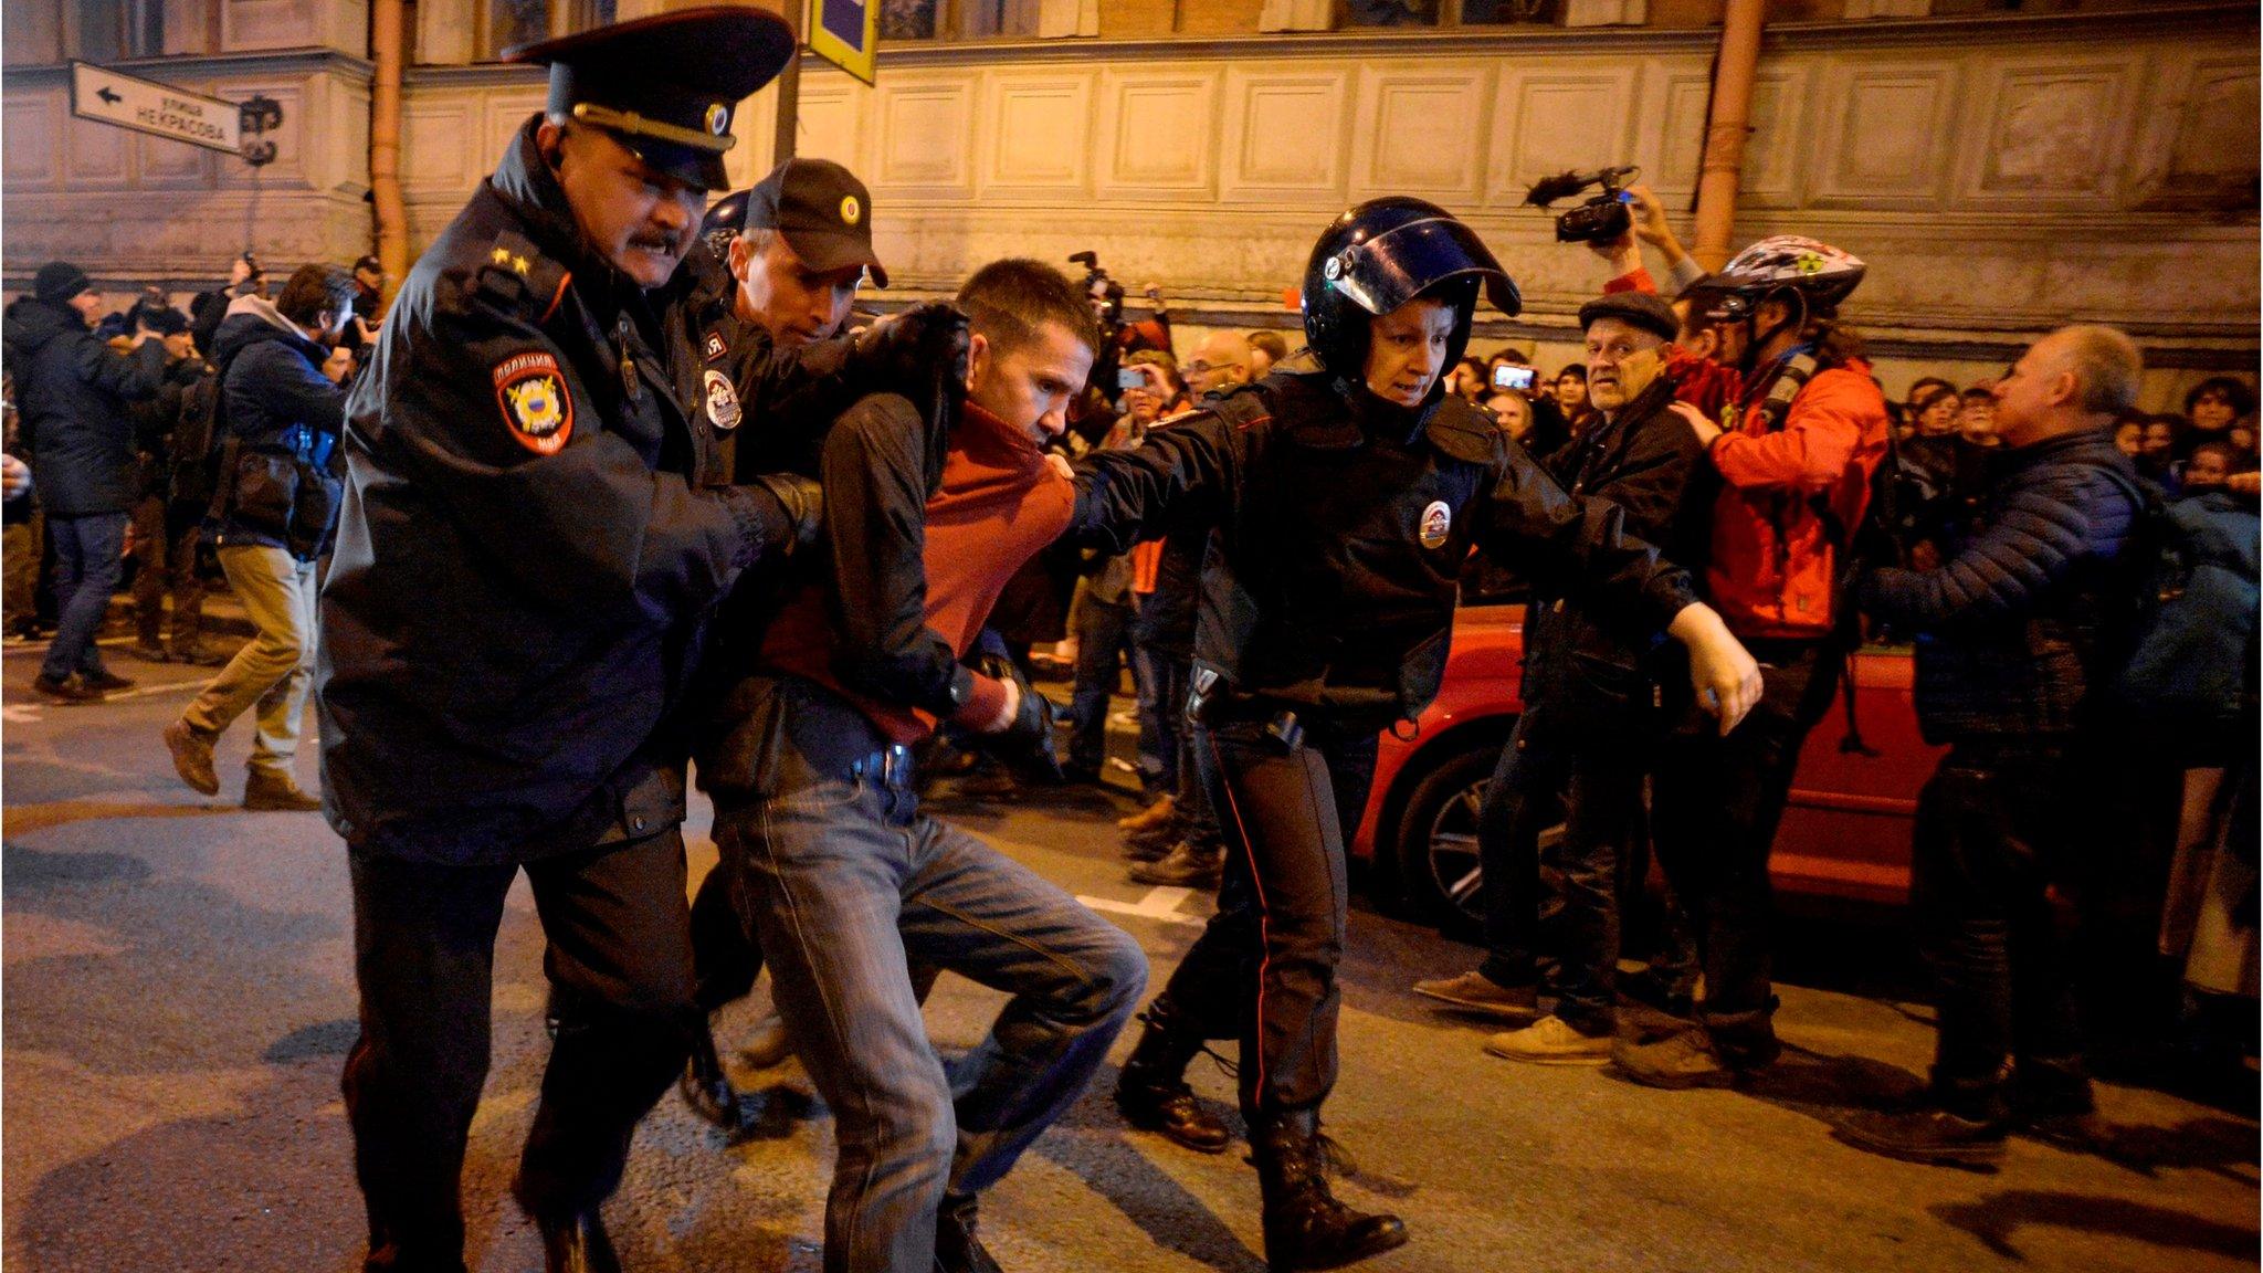
<path fill-rule="evenodd" d="M 600 127 L 638 159 L 702 190 L 731 183 L 731 113 L 794 54 L 794 29 L 763 9 L 706 7 L 613 23 L 502 50 L 550 68 L 548 113 Z"/>

